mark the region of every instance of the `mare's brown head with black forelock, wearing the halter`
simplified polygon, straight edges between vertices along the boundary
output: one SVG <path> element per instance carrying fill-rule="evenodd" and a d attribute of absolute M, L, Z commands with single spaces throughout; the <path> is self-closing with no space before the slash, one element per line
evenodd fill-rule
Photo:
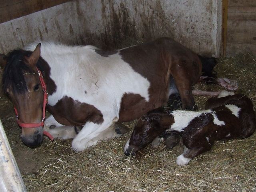
<path fill-rule="evenodd" d="M 3 90 L 16 108 L 22 125 L 22 142 L 31 147 L 40 145 L 43 139 L 43 126 L 26 127 L 42 122 L 44 92 L 37 69 L 42 60 L 40 44 L 33 52 L 20 49 L 7 56 L 0 54 L 0 65 L 4 67 Z"/>

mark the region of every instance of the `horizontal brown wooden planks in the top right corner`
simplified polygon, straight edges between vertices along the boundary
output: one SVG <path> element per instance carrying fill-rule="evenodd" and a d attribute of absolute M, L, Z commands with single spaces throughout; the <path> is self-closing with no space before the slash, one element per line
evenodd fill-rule
<path fill-rule="evenodd" d="M 256 0 L 228 0 L 228 55 L 251 52 L 256 55 Z"/>

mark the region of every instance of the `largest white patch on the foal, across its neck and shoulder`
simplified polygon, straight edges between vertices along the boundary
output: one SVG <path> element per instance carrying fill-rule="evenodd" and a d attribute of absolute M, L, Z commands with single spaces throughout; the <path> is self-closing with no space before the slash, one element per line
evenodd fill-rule
<path fill-rule="evenodd" d="M 175 130 L 178 132 L 181 132 L 186 128 L 190 122 L 200 116 L 201 114 L 211 113 L 212 110 L 204 110 L 200 112 L 194 112 L 194 111 L 183 111 L 183 110 L 176 110 L 171 112 L 170 114 L 174 117 L 174 124 L 170 126 L 169 130 Z"/>

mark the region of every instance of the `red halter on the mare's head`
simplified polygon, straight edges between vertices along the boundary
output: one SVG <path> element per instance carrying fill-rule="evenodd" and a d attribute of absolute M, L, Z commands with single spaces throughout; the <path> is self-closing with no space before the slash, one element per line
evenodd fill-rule
<path fill-rule="evenodd" d="M 44 91 L 44 102 L 43 102 L 43 117 L 42 117 L 42 121 L 40 123 L 22 123 L 20 122 L 19 120 L 19 117 L 18 117 L 18 111 L 17 109 L 14 107 L 14 111 L 16 113 L 16 122 L 18 123 L 19 126 L 21 127 L 25 127 L 25 128 L 34 128 L 34 127 L 40 127 L 40 126 L 44 126 L 44 121 L 45 121 L 45 108 L 46 108 L 46 104 L 48 102 L 48 93 L 46 91 L 46 84 L 44 82 L 44 79 L 43 79 L 43 76 L 42 76 L 42 73 L 41 71 L 36 68 L 38 70 L 38 75 L 39 75 L 39 79 L 40 79 L 40 82 L 41 82 L 41 86 L 42 86 L 42 89 Z M 48 133 L 47 131 L 44 131 L 43 132 L 44 135 L 48 136 L 48 138 L 53 141 L 54 138 L 51 136 L 50 133 Z"/>

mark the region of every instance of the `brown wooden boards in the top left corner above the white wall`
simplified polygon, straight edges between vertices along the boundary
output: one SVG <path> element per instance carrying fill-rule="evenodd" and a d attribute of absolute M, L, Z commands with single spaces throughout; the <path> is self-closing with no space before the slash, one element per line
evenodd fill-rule
<path fill-rule="evenodd" d="M 0 23 L 68 1 L 70 0 L 0 0 Z"/>

